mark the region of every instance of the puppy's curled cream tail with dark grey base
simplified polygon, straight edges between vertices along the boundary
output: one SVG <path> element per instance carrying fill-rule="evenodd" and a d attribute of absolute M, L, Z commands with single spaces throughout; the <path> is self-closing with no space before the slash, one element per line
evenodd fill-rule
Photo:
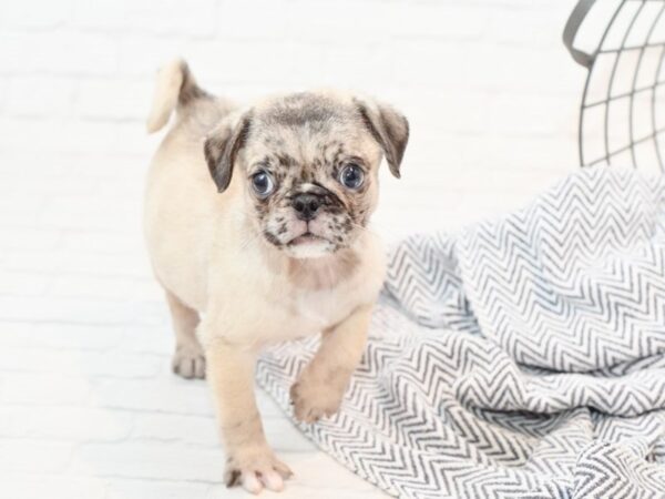
<path fill-rule="evenodd" d="M 149 133 L 161 130 L 176 106 L 187 106 L 198 98 L 207 96 L 201 89 L 190 67 L 183 59 L 174 59 L 160 69 L 155 82 L 155 92 L 145 128 Z"/>

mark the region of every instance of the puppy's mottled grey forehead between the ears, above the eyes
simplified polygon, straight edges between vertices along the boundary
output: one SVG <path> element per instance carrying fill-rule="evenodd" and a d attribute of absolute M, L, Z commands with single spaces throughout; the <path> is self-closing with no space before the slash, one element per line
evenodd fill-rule
<path fill-rule="evenodd" d="M 315 93 L 293 94 L 256 108 L 246 144 L 249 163 L 264 156 L 298 164 L 358 156 L 371 164 L 380 154 L 350 100 Z"/>

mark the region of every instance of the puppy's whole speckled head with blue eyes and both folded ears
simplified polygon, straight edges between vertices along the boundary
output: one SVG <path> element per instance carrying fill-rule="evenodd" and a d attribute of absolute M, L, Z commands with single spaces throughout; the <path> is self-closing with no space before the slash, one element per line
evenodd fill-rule
<path fill-rule="evenodd" d="M 206 157 L 219 191 L 241 176 L 250 223 L 268 244 L 308 258 L 352 245 L 377 204 L 382 154 L 399 175 L 407 140 L 407 121 L 390 108 L 298 93 L 217 128 Z"/>

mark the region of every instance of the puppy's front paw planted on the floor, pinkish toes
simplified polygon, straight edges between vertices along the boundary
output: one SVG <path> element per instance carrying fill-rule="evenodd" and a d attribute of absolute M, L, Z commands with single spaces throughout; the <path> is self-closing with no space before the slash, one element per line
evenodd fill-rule
<path fill-rule="evenodd" d="M 282 462 L 270 449 L 231 452 L 224 470 L 226 487 L 242 485 L 252 493 L 260 492 L 264 487 L 279 492 L 284 490 L 284 480 L 293 471 Z"/>

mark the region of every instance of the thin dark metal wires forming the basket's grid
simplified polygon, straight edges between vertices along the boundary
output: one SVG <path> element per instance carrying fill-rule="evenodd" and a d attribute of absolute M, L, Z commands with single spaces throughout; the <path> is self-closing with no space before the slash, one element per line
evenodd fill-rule
<path fill-rule="evenodd" d="M 623 155 L 630 151 L 630 157 L 633 163 L 633 166 L 638 165 L 638 157 L 636 154 L 636 149 L 642 146 L 643 144 L 652 143 L 655 151 L 655 160 L 657 162 L 657 166 L 661 172 L 665 172 L 665 165 L 663 160 L 665 157 L 665 152 L 661 151 L 661 143 L 658 141 L 658 136 L 665 133 L 665 126 L 657 128 L 656 126 L 656 95 L 658 89 L 665 85 L 665 81 L 658 81 L 661 69 L 663 68 L 663 60 L 665 59 L 665 41 L 655 42 L 652 40 L 654 34 L 654 29 L 658 26 L 661 18 L 665 21 L 665 0 L 623 0 L 617 6 L 615 11 L 612 13 L 610 21 L 606 23 L 604 28 L 604 32 L 602 33 L 600 41 L 596 45 L 595 51 L 592 53 L 584 52 L 574 47 L 575 37 L 577 35 L 577 31 L 580 27 L 584 22 L 586 16 L 592 10 L 596 0 L 580 0 L 576 7 L 573 9 L 571 17 L 569 18 L 564 32 L 563 32 L 563 42 L 567 48 L 569 52 L 573 57 L 573 59 L 586 68 L 589 70 L 586 75 L 586 82 L 584 84 L 584 92 L 582 95 L 582 104 L 580 109 L 580 121 L 579 121 L 579 149 L 580 149 L 580 164 L 582 166 L 591 166 L 594 164 L 606 163 L 612 164 L 613 160 L 616 161 L 617 156 Z M 601 3 L 601 2 L 598 2 Z M 647 22 L 647 31 L 644 37 L 644 43 L 642 44 L 627 44 L 628 39 L 632 34 L 634 34 L 634 30 L 636 27 L 636 21 L 641 16 L 646 16 L 645 6 L 656 6 L 657 9 L 652 10 L 649 12 L 651 19 L 646 19 Z M 631 12 L 632 11 L 632 12 Z M 630 16 L 630 20 L 626 24 L 623 37 L 621 38 L 621 42 L 618 47 L 608 47 L 607 35 L 613 29 L 618 29 L 617 19 L 623 18 L 625 16 Z M 641 19 L 642 21 L 642 19 Z M 655 70 L 655 74 L 653 74 L 653 79 L 651 84 L 637 86 L 637 80 L 641 69 L 643 68 L 644 54 L 647 49 L 659 49 L 657 67 Z M 636 52 L 637 53 L 637 62 L 634 70 L 634 74 L 632 75 L 632 86 L 627 92 L 621 92 L 613 94 L 614 85 L 617 77 L 617 68 L 621 60 L 622 54 L 627 52 Z M 614 62 L 612 64 L 612 69 L 608 78 L 606 79 L 606 91 L 602 99 L 592 100 L 590 95 L 590 83 L 597 78 L 602 78 L 603 75 L 598 74 L 596 62 L 602 57 L 613 57 Z M 649 95 L 651 93 L 651 95 Z M 635 106 L 636 106 L 636 96 L 645 94 L 649 98 L 649 123 L 648 128 L 651 129 L 651 133 L 635 136 Z M 613 142 L 613 136 L 610 134 L 610 112 L 614 105 L 617 105 L 618 102 L 628 102 L 628 140 L 627 143 L 624 143 L 620 146 L 616 146 Z M 592 109 L 602 109 L 604 106 L 603 113 L 603 150 L 604 153 L 596 157 L 590 157 L 587 152 L 589 143 L 593 140 L 592 136 L 589 136 L 590 133 L 585 131 L 585 120 Z"/>

